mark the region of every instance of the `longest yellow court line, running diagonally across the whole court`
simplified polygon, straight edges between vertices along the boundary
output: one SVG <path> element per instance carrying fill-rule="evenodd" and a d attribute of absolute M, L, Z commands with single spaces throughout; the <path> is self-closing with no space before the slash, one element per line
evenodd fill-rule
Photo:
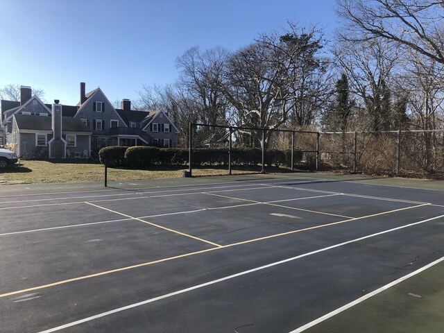
<path fill-rule="evenodd" d="M 62 280 L 62 281 L 53 282 L 53 283 L 49 283 L 49 284 L 43 284 L 43 285 L 37 286 L 37 287 L 31 287 L 31 288 L 22 289 L 22 290 L 11 291 L 9 293 L 2 293 L 2 294 L 0 294 L 0 298 L 7 297 L 7 296 L 12 296 L 12 295 L 17 295 L 19 293 L 26 293 L 28 291 L 35 291 L 35 290 L 45 289 L 45 288 L 49 288 L 49 287 L 55 287 L 55 286 L 58 286 L 60 284 L 67 284 L 69 282 L 76 282 L 76 281 L 80 281 L 80 280 L 86 280 L 86 279 L 89 279 L 89 278 L 96 278 L 98 276 L 108 275 L 108 274 L 111 274 L 111 273 L 117 273 L 117 272 L 121 272 L 121 271 L 128 271 L 128 270 L 133 269 L 133 268 L 139 268 L 139 267 L 148 266 L 148 265 L 152 265 L 152 264 L 158 264 L 160 262 L 167 262 L 167 261 L 170 261 L 170 260 L 173 260 L 173 259 L 190 257 L 192 255 L 198 255 L 200 253 L 211 252 L 211 251 L 214 251 L 214 250 L 221 250 L 222 248 L 230 248 L 230 247 L 239 246 L 239 245 L 242 245 L 242 244 L 253 243 L 255 241 L 262 241 L 264 239 L 271 239 L 271 238 L 275 238 L 275 237 L 282 237 L 282 236 L 285 236 L 287 234 L 294 234 L 296 232 L 302 232 L 302 231 L 307 231 L 307 230 L 314 230 L 314 229 L 325 228 L 325 227 L 328 227 L 330 225 L 336 225 L 336 224 L 340 224 L 340 223 L 346 223 L 346 222 L 350 222 L 350 221 L 366 219 L 366 218 L 373 217 L 373 216 L 390 214 L 390 213 L 393 213 L 393 212 L 399 212 L 401 210 L 410 210 L 412 208 L 418 208 L 418 207 L 422 207 L 422 206 L 426 206 L 426 205 L 431 205 L 431 204 L 430 203 L 425 203 L 425 204 L 422 204 L 422 205 L 416 205 L 416 206 L 411 206 L 411 207 L 404 207 L 404 208 L 400 208 L 398 210 L 391 210 L 391 211 L 388 211 L 388 212 L 381 212 L 381 213 L 377 213 L 377 214 L 361 216 L 361 217 L 357 217 L 357 218 L 354 218 L 354 219 L 348 219 L 348 220 L 343 220 L 343 221 L 338 221 L 338 222 L 333 222 L 333 223 L 327 223 L 327 224 L 323 224 L 323 225 L 316 225 L 314 227 L 298 229 L 298 230 L 292 230 L 292 231 L 289 231 L 289 232 L 283 232 L 281 234 L 272 234 L 270 236 L 260 237 L 260 238 L 256 238 L 256 239 L 249 239 L 248 241 L 239 241 L 237 243 L 228 244 L 228 245 L 224 245 L 224 246 L 219 246 L 217 248 L 208 248 L 206 250 L 200 250 L 200 251 L 191 252 L 191 253 L 184 253 L 182 255 L 176 255 L 174 257 L 158 259 L 158 260 L 155 260 L 153 262 L 144 262 L 142 264 L 137 264 L 137 265 L 133 265 L 133 266 L 126 266 L 126 267 L 116 268 L 116 269 L 112 269 L 110 271 L 103 271 L 103 272 L 100 272 L 100 273 L 84 275 L 84 276 L 80 276 L 78 278 L 72 278 L 72 279 Z"/>

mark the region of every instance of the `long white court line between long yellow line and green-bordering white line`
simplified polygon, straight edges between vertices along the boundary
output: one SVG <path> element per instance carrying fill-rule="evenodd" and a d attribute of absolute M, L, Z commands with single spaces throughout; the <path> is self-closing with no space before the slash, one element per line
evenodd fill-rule
<path fill-rule="evenodd" d="M 196 290 L 196 289 L 207 287 L 207 286 L 210 286 L 212 284 L 216 284 L 216 283 L 223 282 L 223 281 L 226 281 L 226 280 L 231 280 L 233 278 L 237 278 L 237 277 L 242 276 L 242 275 L 247 275 L 247 274 L 250 274 L 250 273 L 257 272 L 257 271 L 262 271 L 263 269 L 266 269 L 266 268 L 270 268 L 270 267 L 273 267 L 273 266 L 278 266 L 278 265 L 281 265 L 281 264 L 285 264 L 287 262 L 292 262 L 294 260 L 297 260 L 297 259 L 300 259 L 300 258 L 303 258 L 303 257 L 308 257 L 309 255 L 315 255 L 316 253 L 322 253 L 322 252 L 325 252 L 327 250 L 332 250 L 333 248 L 339 248 L 340 246 L 345 246 L 347 244 L 356 243 L 357 241 L 362 241 L 364 239 L 376 237 L 376 236 L 379 236 L 381 234 L 386 234 L 388 232 L 393 232 L 395 230 L 409 228 L 409 227 L 411 227 L 413 225 L 418 225 L 418 224 L 429 222 L 429 221 L 432 221 L 432 220 L 441 219 L 443 217 L 444 217 L 444 215 L 435 216 L 435 217 L 432 217 L 431 219 L 422 220 L 422 221 L 415 222 L 415 223 L 410 223 L 410 224 L 407 224 L 407 225 L 402 225 L 400 227 L 389 229 L 389 230 L 385 230 L 385 231 L 382 231 L 382 232 L 376 232 L 375 234 L 369 234 L 367 236 L 359 237 L 357 239 L 352 239 L 350 241 L 344 241 L 343 243 L 335 244 L 335 245 L 332 245 L 332 246 L 327 246 L 326 248 L 321 248 L 319 250 L 314 250 L 314 251 L 311 251 L 309 253 L 305 253 L 303 255 L 297 255 L 296 257 L 291 257 L 291 258 L 288 258 L 288 259 L 280 260 L 279 262 L 273 262 L 271 264 L 267 264 L 267 265 L 264 265 L 264 266 L 259 266 L 257 268 L 249 269 L 248 271 L 243 271 L 243 272 L 240 272 L 240 273 L 228 275 L 228 276 L 225 276 L 224 278 L 220 278 L 220 279 L 217 279 L 217 280 L 212 280 L 210 282 L 205 282 L 205 283 L 202 283 L 202 284 L 197 284 L 196 286 L 189 287 L 189 288 L 186 288 L 186 289 L 181 289 L 181 290 L 178 290 L 178 291 L 174 291 L 173 293 L 167 293 L 166 295 L 158 296 L 158 297 L 155 297 L 155 298 L 150 298 L 148 300 L 144 300 L 142 302 L 137 302 L 137 303 L 134 303 L 134 304 L 131 304 L 131 305 L 126 305 L 125 307 L 119 307 L 117 309 L 112 309 L 110 311 L 105 311 L 105 312 L 102 312 L 101 314 L 96 314 L 94 316 L 89 316 L 87 318 L 80 319 L 79 321 L 74 321 L 72 323 L 67 323 L 65 325 L 61 325 L 61 326 L 58 326 L 58 327 L 53 327 L 53 328 L 51 328 L 49 330 L 44 330 L 44 331 L 42 331 L 40 333 L 51 333 L 51 332 L 57 332 L 57 331 L 60 331 L 60 330 L 64 330 L 65 328 L 68 328 L 68 327 L 73 327 L 73 326 L 76 326 L 76 325 L 80 325 L 82 323 L 87 323 L 88 321 L 94 321 L 94 320 L 96 320 L 98 318 L 103 318 L 105 316 L 110 316 L 111 314 L 117 314 L 118 312 L 126 311 L 128 309 L 133 309 L 135 307 L 140 307 L 140 306 L 146 305 L 148 303 L 156 302 L 157 300 L 163 300 L 165 298 L 170 298 L 172 296 L 180 295 L 182 293 L 187 293 L 189 291 L 193 291 L 193 290 Z"/>

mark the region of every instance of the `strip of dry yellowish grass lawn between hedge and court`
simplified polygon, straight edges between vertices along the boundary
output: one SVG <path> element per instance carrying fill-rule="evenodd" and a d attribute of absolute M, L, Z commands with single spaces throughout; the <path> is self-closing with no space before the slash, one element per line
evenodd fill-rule
<path fill-rule="evenodd" d="M 0 171 L 0 184 L 38 184 L 57 182 L 101 182 L 104 178 L 104 167 L 93 161 L 72 160 L 63 161 L 29 161 L 20 160 L 19 167 L 7 168 Z M 154 178 L 179 178 L 182 170 L 129 170 L 108 168 L 108 180 L 138 180 Z M 232 173 L 255 173 L 255 171 L 235 171 Z M 193 169 L 193 176 L 227 175 L 228 167 L 224 169 Z"/>

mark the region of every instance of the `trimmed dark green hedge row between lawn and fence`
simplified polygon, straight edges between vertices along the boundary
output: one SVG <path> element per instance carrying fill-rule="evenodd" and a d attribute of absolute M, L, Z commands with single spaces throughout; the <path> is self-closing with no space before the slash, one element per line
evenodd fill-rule
<path fill-rule="evenodd" d="M 102 164 L 110 167 L 149 168 L 153 165 L 164 167 L 182 166 L 188 163 L 188 149 L 157 148 L 148 146 L 108 146 L 99 151 Z M 295 152 L 295 162 L 302 158 L 302 153 Z M 228 148 L 199 148 L 193 149 L 194 166 L 221 166 L 228 164 Z M 280 166 L 291 163 L 291 151 L 266 149 L 265 164 Z M 232 148 L 231 162 L 233 166 L 254 166 L 262 162 L 260 148 Z"/>

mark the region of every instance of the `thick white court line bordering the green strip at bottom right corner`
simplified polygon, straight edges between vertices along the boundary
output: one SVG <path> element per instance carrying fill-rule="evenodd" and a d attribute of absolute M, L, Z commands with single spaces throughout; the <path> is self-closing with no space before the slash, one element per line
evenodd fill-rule
<path fill-rule="evenodd" d="M 355 305 L 358 305 L 360 302 L 364 302 L 364 300 L 367 300 L 368 298 L 373 297 L 373 296 L 377 295 L 378 293 L 381 293 L 382 291 L 387 290 L 388 288 L 391 288 L 391 287 L 395 286 L 396 284 L 398 284 L 404 280 L 407 280 L 407 279 L 411 278 L 412 276 L 419 274 L 422 271 L 425 271 L 427 268 L 430 268 L 430 267 L 432 267 L 436 264 L 439 264 L 440 262 L 443 262 L 443 261 L 444 261 L 444 257 L 441 257 L 440 259 L 435 260 L 434 262 L 431 262 L 430 264 L 427 264 L 424 267 L 421 267 L 408 275 L 404 275 L 402 278 L 399 278 L 398 280 L 390 282 L 390 283 L 386 284 L 385 286 L 383 286 L 379 289 L 376 289 L 375 291 L 372 291 L 371 293 L 367 293 L 366 295 L 364 295 L 360 298 L 357 298 L 356 300 L 344 305 L 343 307 L 339 307 L 338 309 L 331 311 L 330 313 L 325 314 L 324 316 L 319 317 L 316 320 L 311 321 L 310 323 L 307 323 L 307 324 L 305 324 L 305 325 L 299 327 L 298 329 L 293 330 L 289 333 L 303 332 L 303 331 L 309 329 L 310 327 L 313 327 L 314 325 L 317 325 L 318 323 L 322 323 L 323 321 L 326 321 L 328 318 L 332 318 L 332 316 L 336 316 L 336 314 L 340 314 L 342 311 L 345 311 L 346 309 L 350 309 L 350 307 L 354 307 Z"/>

